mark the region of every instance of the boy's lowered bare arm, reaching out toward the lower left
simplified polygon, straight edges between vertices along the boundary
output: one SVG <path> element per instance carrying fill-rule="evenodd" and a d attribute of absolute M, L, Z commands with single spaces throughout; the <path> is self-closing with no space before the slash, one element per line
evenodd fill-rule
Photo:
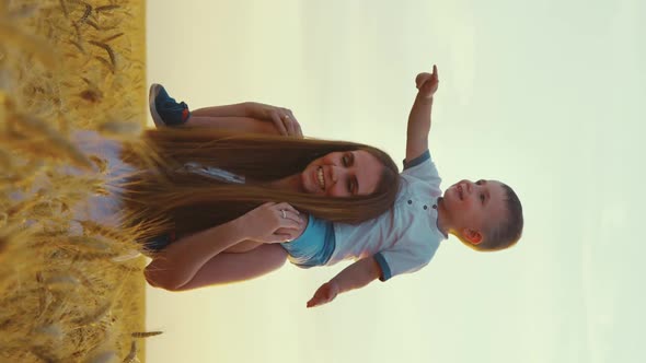
<path fill-rule="evenodd" d="M 377 280 L 380 274 L 381 268 L 374 258 L 360 259 L 319 288 L 314 296 L 308 302 L 308 307 L 327 304 L 343 292 L 364 288 Z"/>

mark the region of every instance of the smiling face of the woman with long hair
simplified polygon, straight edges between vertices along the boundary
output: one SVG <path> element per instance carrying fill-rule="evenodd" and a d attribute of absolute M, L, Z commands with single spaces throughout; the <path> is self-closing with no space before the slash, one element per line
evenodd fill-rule
<path fill-rule="evenodd" d="M 305 192 L 334 198 L 369 196 L 377 190 L 383 164 L 365 150 L 331 152 L 301 173 Z"/>

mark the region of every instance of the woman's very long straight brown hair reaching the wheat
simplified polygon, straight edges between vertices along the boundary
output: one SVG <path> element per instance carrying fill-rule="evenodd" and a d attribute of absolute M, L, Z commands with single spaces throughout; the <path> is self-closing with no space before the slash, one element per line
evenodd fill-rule
<path fill-rule="evenodd" d="M 350 150 L 365 150 L 384 166 L 370 196 L 331 198 L 267 184 L 302 172 L 330 152 Z M 285 201 L 332 222 L 359 223 L 391 208 L 399 190 L 399 171 L 392 159 L 379 149 L 353 142 L 165 128 L 146 131 L 123 157 L 141 171 L 126 187 L 127 213 L 138 223 L 163 221 L 158 232 L 198 232 L 267 201 Z M 243 175 L 247 183 L 218 183 L 177 172 L 188 162 Z"/>

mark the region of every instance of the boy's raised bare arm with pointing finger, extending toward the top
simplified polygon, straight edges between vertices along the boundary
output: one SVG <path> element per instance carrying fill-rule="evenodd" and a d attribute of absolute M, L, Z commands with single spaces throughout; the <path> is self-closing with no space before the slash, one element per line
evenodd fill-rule
<path fill-rule="evenodd" d="M 411 162 L 428 149 L 430 110 L 432 108 L 432 96 L 438 89 L 438 83 L 436 66 L 432 66 L 432 73 L 419 73 L 415 78 L 415 85 L 419 91 L 408 115 L 406 162 Z"/>

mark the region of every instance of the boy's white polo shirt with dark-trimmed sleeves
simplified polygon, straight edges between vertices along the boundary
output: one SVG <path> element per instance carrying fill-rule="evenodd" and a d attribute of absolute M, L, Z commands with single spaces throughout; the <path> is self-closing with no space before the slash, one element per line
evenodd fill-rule
<path fill-rule="evenodd" d="M 326 265 L 373 256 L 381 267 L 381 281 L 414 272 L 426 266 L 441 241 L 437 227 L 440 177 L 430 153 L 404 164 L 394 206 L 380 216 L 360 224 L 334 223 L 336 248 Z"/>

